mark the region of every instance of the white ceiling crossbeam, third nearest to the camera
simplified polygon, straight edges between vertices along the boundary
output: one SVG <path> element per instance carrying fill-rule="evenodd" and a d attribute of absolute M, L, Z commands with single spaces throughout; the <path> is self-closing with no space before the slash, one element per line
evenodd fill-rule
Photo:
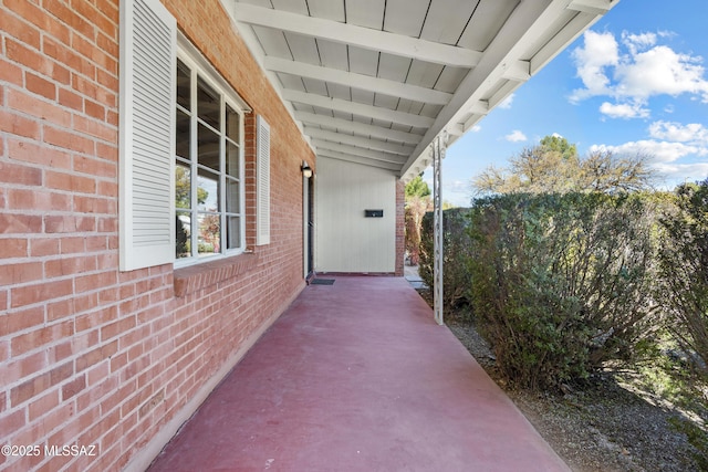
<path fill-rule="evenodd" d="M 433 125 L 435 119 L 427 116 L 413 115 L 410 113 L 396 112 L 381 106 L 364 105 L 362 103 L 350 102 L 346 99 L 331 98 L 324 95 L 309 94 L 293 90 L 283 91 L 283 98 L 290 102 L 298 102 L 305 105 L 319 106 L 337 112 L 351 113 L 354 115 L 376 118 L 384 122 L 398 123 L 400 125 L 427 128 Z"/>

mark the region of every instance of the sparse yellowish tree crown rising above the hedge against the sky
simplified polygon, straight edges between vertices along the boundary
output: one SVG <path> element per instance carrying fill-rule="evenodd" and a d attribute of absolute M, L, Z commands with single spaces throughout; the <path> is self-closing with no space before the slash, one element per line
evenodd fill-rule
<path fill-rule="evenodd" d="M 628 192 L 650 188 L 647 162 L 646 155 L 626 157 L 606 150 L 581 158 L 565 138 L 546 136 L 512 157 L 508 169 L 488 167 L 472 179 L 472 187 L 481 195 Z"/>

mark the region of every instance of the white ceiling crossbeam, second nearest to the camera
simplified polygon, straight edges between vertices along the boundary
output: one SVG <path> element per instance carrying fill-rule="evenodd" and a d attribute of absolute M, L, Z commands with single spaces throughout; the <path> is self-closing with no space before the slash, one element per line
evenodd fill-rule
<path fill-rule="evenodd" d="M 404 84 L 386 78 L 372 77 L 371 75 L 356 74 L 273 56 L 267 56 L 263 61 L 263 66 L 273 72 L 316 78 L 348 87 L 435 105 L 446 105 L 452 97 L 450 93 L 418 85 Z"/>

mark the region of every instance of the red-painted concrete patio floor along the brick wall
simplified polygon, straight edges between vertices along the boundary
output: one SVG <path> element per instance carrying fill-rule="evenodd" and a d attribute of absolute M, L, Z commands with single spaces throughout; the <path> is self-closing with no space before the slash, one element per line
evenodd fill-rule
<path fill-rule="evenodd" d="M 405 279 L 310 285 L 150 471 L 568 471 Z"/>

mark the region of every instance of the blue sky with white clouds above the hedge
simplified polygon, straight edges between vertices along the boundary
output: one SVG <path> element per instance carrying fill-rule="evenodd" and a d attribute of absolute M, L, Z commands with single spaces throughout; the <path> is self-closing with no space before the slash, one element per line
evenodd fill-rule
<path fill-rule="evenodd" d="M 706 0 L 621 0 L 448 148 L 442 199 L 468 206 L 475 175 L 553 134 L 647 155 L 663 188 L 708 177 L 707 20 Z"/>

